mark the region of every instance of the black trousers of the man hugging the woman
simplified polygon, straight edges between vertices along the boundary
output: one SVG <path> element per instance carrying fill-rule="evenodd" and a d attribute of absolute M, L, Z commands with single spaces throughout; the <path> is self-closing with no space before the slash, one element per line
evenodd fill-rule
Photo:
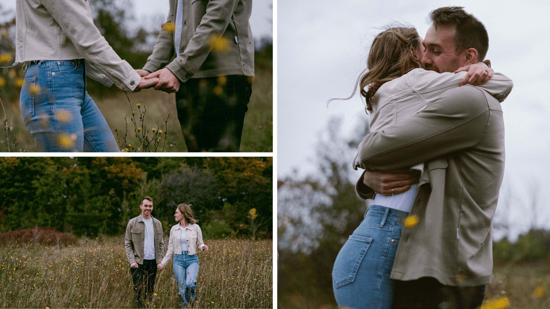
<path fill-rule="evenodd" d="M 393 283 L 392 309 L 476 309 L 485 296 L 485 285 L 449 286 L 431 277 Z"/>

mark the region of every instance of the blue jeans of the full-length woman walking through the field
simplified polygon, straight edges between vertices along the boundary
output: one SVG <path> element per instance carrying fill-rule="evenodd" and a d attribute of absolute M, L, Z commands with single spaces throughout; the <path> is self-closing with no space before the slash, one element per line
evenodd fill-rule
<path fill-rule="evenodd" d="M 197 274 L 199 273 L 199 258 L 197 253 L 194 255 L 187 253 L 188 251 L 183 251 L 182 254 L 174 253 L 173 266 L 182 307 L 193 307 Z"/>

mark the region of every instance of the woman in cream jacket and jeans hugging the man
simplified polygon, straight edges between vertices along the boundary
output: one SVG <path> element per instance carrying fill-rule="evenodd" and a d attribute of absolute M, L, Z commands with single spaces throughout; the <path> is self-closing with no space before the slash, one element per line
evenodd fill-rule
<path fill-rule="evenodd" d="M 360 77 L 360 92 L 370 112 L 371 132 L 383 130 L 420 111 L 426 106 L 422 98 L 438 96 L 458 87 L 466 75 L 465 72 L 439 74 L 421 69 L 421 47 L 422 38 L 413 27 L 389 27 L 373 41 L 367 59 L 368 71 Z M 487 69 L 481 78 L 488 74 Z M 509 78 L 495 73 L 480 87 L 502 102 L 512 85 Z M 410 97 L 406 104 L 399 104 L 405 101 L 399 100 L 403 96 Z M 355 169 L 357 166 L 359 164 L 354 162 Z M 411 169 L 421 171 L 422 167 L 416 165 Z M 364 220 L 350 235 L 334 263 L 333 290 L 340 307 L 389 309 L 392 306 L 390 273 L 402 222 L 409 214 L 416 192 L 417 185 L 413 185 L 402 194 L 375 196 Z"/>

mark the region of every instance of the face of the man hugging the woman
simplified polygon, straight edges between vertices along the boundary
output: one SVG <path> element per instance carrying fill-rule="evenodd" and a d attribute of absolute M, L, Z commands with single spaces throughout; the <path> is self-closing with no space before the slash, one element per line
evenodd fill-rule
<path fill-rule="evenodd" d="M 456 55 L 454 48 L 455 25 L 430 26 L 422 43 L 426 49 L 422 55 L 421 66 L 423 69 L 436 71 L 437 73 L 454 72 L 464 66 L 464 61 Z"/>

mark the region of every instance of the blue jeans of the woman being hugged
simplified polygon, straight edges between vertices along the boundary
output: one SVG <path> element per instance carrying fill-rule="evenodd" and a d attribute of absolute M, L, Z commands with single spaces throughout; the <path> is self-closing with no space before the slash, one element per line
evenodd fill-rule
<path fill-rule="evenodd" d="M 334 297 L 339 307 L 390 309 L 392 273 L 403 219 L 408 212 L 372 205 L 349 236 L 332 269 Z"/>

